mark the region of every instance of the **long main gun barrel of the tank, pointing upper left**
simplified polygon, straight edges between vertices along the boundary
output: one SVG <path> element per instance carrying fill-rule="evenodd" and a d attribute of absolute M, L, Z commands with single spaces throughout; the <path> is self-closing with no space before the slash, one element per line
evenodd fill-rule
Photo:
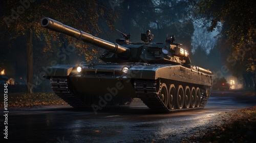
<path fill-rule="evenodd" d="M 102 49 L 108 50 L 109 52 L 115 53 L 122 57 L 127 57 L 130 54 L 130 49 L 124 46 L 121 46 L 117 43 L 112 43 L 98 37 L 94 37 L 89 33 L 74 29 L 72 27 L 63 25 L 61 22 L 53 20 L 48 17 L 44 17 L 41 19 L 41 26 L 47 29 L 50 29 L 55 32 L 59 32 L 62 34 L 69 35 L 71 37 L 75 37 L 78 40 L 81 40 L 86 43 L 91 43 L 93 45 L 99 46 Z"/>

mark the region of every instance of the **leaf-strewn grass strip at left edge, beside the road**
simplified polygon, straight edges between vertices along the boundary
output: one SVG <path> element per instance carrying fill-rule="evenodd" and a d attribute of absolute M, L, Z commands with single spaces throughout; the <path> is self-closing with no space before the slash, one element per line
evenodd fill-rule
<path fill-rule="evenodd" d="M 0 106 L 4 106 L 4 96 L 0 97 Z M 32 107 L 66 105 L 67 103 L 54 93 L 8 93 L 8 107 Z"/>

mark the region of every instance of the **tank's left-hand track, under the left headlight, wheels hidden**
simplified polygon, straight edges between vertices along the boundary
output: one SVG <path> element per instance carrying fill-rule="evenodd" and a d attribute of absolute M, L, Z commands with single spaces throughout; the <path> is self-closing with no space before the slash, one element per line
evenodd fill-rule
<path fill-rule="evenodd" d="M 50 85 L 53 92 L 70 106 L 74 108 L 92 108 L 92 106 L 85 105 L 81 96 L 79 97 L 74 93 L 67 77 L 52 77 L 50 78 Z M 103 108 L 125 108 L 129 107 L 132 102 L 133 99 L 131 98 L 131 101 L 126 105 L 106 105 Z"/>

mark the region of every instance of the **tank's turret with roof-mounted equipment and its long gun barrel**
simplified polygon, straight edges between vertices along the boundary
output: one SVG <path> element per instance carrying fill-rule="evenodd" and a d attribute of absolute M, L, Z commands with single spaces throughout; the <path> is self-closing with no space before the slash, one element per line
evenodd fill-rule
<path fill-rule="evenodd" d="M 91 43 L 106 51 L 100 56 L 104 62 L 144 62 L 144 63 L 162 63 L 162 64 L 190 64 L 189 54 L 186 50 L 180 47 L 181 44 L 174 43 L 166 39 L 164 43 L 149 43 L 145 42 L 145 35 L 141 34 L 141 39 L 144 42 L 132 43 L 129 41 L 130 34 L 125 36 L 125 39 L 116 40 L 118 43 L 113 43 L 92 36 L 89 33 L 74 29 L 63 25 L 62 23 L 48 17 L 41 19 L 41 26 L 59 33 L 63 33 L 77 38 L 86 43 Z M 119 31 L 120 32 L 120 31 Z M 126 41 L 126 42 L 123 42 Z"/>

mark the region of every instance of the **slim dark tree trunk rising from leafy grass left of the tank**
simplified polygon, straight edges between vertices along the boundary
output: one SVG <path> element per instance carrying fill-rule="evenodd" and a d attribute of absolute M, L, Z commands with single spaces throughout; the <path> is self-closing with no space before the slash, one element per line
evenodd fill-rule
<path fill-rule="evenodd" d="M 32 45 L 32 28 L 29 30 L 27 42 L 27 93 L 33 93 L 33 45 Z"/>

